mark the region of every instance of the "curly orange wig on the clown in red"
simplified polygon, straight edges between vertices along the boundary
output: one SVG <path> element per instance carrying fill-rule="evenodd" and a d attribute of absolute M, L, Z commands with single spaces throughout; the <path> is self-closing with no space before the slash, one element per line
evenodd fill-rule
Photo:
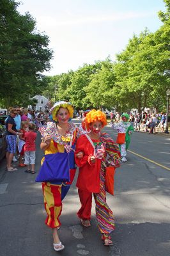
<path fill-rule="evenodd" d="M 92 109 L 89 111 L 89 113 L 86 115 L 85 123 L 86 127 L 89 128 L 89 125 L 93 122 L 100 121 L 102 122 L 102 128 L 107 125 L 107 119 L 105 113 L 103 113 L 100 110 Z"/>

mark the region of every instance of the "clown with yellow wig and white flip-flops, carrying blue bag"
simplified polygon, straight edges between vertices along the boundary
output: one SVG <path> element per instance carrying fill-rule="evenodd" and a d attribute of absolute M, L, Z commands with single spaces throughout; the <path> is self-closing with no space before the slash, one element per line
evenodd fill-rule
<path fill-rule="evenodd" d="M 46 154 L 66 153 L 65 145 L 75 148 L 79 130 L 68 120 L 73 117 L 73 106 L 70 102 L 56 102 L 50 109 L 50 118 L 52 122 L 47 123 L 40 148 Z M 82 152 L 77 154 L 77 158 L 82 157 Z M 42 159 L 42 164 L 44 157 Z M 61 226 L 59 216 L 62 211 L 62 200 L 65 197 L 75 175 L 75 163 L 73 150 L 69 153 L 70 161 L 70 182 L 43 182 L 43 197 L 47 219 L 45 223 L 53 230 L 54 250 L 60 251 L 65 248 L 58 236 L 58 229 Z"/>

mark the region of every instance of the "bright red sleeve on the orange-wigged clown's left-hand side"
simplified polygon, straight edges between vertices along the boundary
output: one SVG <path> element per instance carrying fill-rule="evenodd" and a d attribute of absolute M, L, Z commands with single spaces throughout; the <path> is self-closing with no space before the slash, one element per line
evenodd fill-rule
<path fill-rule="evenodd" d="M 90 165 L 92 164 L 90 158 L 91 156 L 93 156 L 94 149 L 92 146 L 90 146 L 91 145 L 89 145 L 89 141 L 87 140 L 86 136 L 81 135 L 77 140 L 75 150 L 75 163 L 77 164 L 77 166 L 82 167 L 87 163 L 89 163 Z M 80 151 L 82 151 L 84 154 L 82 159 L 76 157 L 76 154 L 79 153 Z"/>

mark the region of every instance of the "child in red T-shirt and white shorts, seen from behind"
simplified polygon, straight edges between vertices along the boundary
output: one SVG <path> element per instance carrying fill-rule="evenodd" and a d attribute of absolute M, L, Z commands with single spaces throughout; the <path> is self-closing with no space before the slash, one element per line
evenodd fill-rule
<path fill-rule="evenodd" d="M 29 131 L 25 133 L 25 152 L 24 164 L 27 165 L 27 170 L 25 172 L 35 174 L 35 140 L 36 140 L 36 132 L 35 132 L 35 124 L 29 123 L 28 125 Z"/>

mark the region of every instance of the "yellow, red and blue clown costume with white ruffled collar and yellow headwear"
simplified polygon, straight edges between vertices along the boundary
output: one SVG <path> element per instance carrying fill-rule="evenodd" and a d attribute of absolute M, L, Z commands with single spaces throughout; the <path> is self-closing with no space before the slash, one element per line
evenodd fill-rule
<path fill-rule="evenodd" d="M 50 119 L 52 122 L 47 123 L 43 136 L 50 135 L 51 141 L 49 147 L 45 149 L 45 155 L 56 154 L 58 152 L 66 153 L 64 146 L 66 144 L 70 145 L 70 141 L 70 146 L 74 149 L 77 138 L 82 134 L 82 132 L 77 128 L 77 125 L 69 122 L 69 131 L 66 136 L 61 136 L 61 134 L 59 134 L 56 123 L 58 122 L 57 115 L 60 108 L 68 109 L 70 118 L 73 117 L 73 106 L 70 102 L 56 102 L 50 109 Z M 42 164 L 43 161 L 44 157 L 42 159 Z M 60 227 L 61 225 L 59 216 L 62 211 L 62 200 L 65 198 L 66 193 L 72 184 L 76 170 L 73 150 L 69 153 L 69 163 L 71 163 L 70 182 L 42 182 L 44 205 L 45 211 L 47 212 L 47 219 L 45 220 L 45 223 L 50 228 Z"/>

